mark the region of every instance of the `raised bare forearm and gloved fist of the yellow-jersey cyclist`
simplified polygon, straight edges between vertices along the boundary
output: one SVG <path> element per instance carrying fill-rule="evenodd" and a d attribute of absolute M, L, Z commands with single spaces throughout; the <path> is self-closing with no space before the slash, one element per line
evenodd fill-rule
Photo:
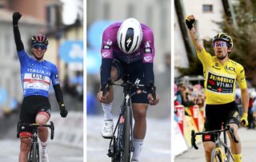
<path fill-rule="evenodd" d="M 194 22 L 195 22 L 195 18 L 193 14 L 186 17 L 186 26 L 189 29 L 190 38 L 192 39 L 194 48 L 197 52 L 201 52 L 202 49 L 204 49 L 204 47 L 198 37 L 198 32 L 195 30 L 193 26 Z"/>

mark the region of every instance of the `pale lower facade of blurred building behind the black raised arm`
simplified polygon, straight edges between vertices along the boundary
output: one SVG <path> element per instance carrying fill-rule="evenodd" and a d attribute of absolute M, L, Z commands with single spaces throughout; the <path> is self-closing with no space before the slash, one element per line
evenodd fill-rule
<path fill-rule="evenodd" d="M 0 73 L 2 76 L 0 77 L 0 89 L 6 90 L 7 100 L 12 97 L 21 100 L 22 84 L 20 65 L 14 43 L 12 14 L 13 12 L 0 10 Z M 30 36 L 37 33 L 42 26 L 45 26 L 45 23 L 38 21 L 36 18 L 23 16 L 20 20 L 19 30 L 26 51 L 30 51 L 30 46 L 28 45 Z"/>

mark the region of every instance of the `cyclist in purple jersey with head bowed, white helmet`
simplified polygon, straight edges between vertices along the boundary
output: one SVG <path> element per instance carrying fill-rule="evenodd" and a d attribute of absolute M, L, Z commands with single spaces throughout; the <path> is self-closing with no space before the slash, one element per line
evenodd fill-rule
<path fill-rule="evenodd" d="M 146 25 L 135 18 L 124 22 L 116 22 L 104 30 L 102 35 L 101 87 L 107 81 L 131 81 L 135 84 L 154 85 L 154 34 Z M 102 88 L 98 100 L 102 102 L 104 122 L 102 136 L 110 138 L 113 134 L 113 117 L 111 113 L 114 98 L 113 87 L 110 86 L 106 97 L 102 97 Z M 141 89 L 142 91 L 138 91 Z M 138 161 L 143 139 L 146 136 L 146 110 L 148 105 L 157 105 L 150 89 L 133 89 L 131 97 L 134 114 L 134 153 L 132 161 Z M 142 93 L 140 93 L 142 92 Z"/>

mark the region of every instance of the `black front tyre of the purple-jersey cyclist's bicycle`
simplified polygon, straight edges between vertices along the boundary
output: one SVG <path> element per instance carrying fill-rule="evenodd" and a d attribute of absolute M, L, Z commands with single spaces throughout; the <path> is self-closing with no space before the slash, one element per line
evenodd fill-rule
<path fill-rule="evenodd" d="M 125 116 L 125 126 L 124 126 L 124 133 L 123 133 L 123 153 L 122 153 L 122 161 L 123 162 L 130 162 L 130 106 L 126 107 Z"/>

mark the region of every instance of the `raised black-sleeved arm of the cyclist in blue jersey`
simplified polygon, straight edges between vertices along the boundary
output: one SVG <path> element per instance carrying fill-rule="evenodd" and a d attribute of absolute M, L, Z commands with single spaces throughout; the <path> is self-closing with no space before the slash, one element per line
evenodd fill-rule
<path fill-rule="evenodd" d="M 14 40 L 16 44 L 17 51 L 22 51 L 24 49 L 24 45 L 22 43 L 21 34 L 18 30 L 18 20 L 22 18 L 22 14 L 19 12 L 15 12 L 13 14 L 13 26 L 14 26 Z"/>

